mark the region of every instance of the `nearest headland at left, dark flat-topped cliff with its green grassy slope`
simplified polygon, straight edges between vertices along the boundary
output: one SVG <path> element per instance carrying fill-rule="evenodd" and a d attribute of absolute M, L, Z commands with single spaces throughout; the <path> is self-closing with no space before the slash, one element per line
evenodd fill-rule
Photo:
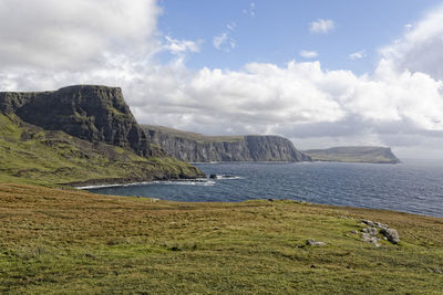
<path fill-rule="evenodd" d="M 0 93 L 0 182 L 127 183 L 202 177 L 152 145 L 122 91 Z"/>

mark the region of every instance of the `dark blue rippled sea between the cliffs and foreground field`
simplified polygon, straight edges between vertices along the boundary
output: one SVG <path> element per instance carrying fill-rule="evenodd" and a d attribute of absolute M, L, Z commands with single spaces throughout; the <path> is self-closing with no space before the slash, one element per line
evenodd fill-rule
<path fill-rule="evenodd" d="M 195 166 L 208 176 L 217 175 L 217 179 L 87 190 L 189 202 L 291 199 L 443 217 L 443 162 L 219 162 Z"/>

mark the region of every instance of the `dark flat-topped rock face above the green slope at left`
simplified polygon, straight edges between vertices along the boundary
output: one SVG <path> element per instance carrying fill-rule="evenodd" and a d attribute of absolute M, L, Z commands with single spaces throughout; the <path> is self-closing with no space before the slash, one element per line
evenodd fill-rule
<path fill-rule="evenodd" d="M 49 130 L 62 130 L 91 143 L 105 143 L 148 157 L 153 148 L 119 87 L 78 85 L 55 92 L 1 92 L 0 112 Z"/>

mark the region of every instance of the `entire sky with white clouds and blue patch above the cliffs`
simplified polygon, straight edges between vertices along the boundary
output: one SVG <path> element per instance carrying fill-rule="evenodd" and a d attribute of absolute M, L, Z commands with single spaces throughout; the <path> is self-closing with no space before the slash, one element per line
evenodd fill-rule
<path fill-rule="evenodd" d="M 0 91 L 121 86 L 140 123 L 443 158 L 443 1 L 1 0 Z"/>

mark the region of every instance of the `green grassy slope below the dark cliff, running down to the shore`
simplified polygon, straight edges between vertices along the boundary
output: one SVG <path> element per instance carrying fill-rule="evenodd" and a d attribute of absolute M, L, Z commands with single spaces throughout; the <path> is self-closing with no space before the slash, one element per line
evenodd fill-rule
<path fill-rule="evenodd" d="M 200 171 L 173 158 L 144 158 L 131 150 L 48 131 L 0 114 L 0 181 L 56 186 L 195 177 Z"/>

